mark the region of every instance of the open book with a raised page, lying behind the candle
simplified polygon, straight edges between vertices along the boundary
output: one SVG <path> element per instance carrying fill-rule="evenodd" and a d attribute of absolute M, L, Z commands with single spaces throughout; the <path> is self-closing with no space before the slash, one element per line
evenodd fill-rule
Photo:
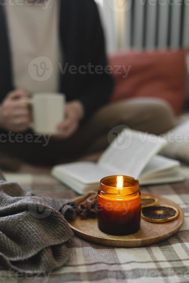
<path fill-rule="evenodd" d="M 52 176 L 77 193 L 99 187 L 103 177 L 126 175 L 138 178 L 140 185 L 182 181 L 179 161 L 157 155 L 166 140 L 155 135 L 123 129 L 97 163 L 74 162 L 55 166 Z"/>

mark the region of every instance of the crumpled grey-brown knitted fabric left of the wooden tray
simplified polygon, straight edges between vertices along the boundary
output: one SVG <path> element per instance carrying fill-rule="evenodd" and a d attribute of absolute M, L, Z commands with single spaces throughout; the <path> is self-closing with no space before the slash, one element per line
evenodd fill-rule
<path fill-rule="evenodd" d="M 41 198 L 0 176 L 0 267 L 51 271 L 68 260 L 73 232 L 65 218 L 75 209 L 65 200 Z"/>

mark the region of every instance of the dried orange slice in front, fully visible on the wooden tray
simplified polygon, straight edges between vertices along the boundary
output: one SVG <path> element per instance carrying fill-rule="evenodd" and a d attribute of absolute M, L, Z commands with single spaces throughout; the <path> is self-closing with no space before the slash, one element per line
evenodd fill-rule
<path fill-rule="evenodd" d="M 179 217 L 179 210 L 171 205 L 156 204 L 143 207 L 141 217 L 149 222 L 163 223 L 177 219 Z"/>

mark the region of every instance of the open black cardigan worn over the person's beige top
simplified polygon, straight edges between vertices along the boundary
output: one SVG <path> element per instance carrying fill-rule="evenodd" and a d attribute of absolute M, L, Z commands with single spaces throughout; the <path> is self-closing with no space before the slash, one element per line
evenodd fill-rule
<path fill-rule="evenodd" d="M 109 101 L 113 90 L 113 80 L 104 71 L 102 74 L 70 74 L 71 65 L 77 68 L 88 64 L 107 65 L 103 30 L 94 0 L 59 0 L 60 42 L 64 54 L 60 72 L 59 90 L 66 94 L 67 101 L 78 99 L 84 104 L 86 117 Z M 5 7 L 0 5 L 0 103 L 8 92 L 14 89 L 12 79 L 11 53 Z M 93 69 L 92 69 L 93 70 Z M 48 91 L 48 90 L 47 90 Z"/>

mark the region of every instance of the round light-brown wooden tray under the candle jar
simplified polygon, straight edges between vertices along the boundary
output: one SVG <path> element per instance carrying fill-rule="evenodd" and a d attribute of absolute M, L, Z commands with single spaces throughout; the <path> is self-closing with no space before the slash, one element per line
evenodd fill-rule
<path fill-rule="evenodd" d="M 162 242 L 176 234 L 184 221 L 182 209 L 176 203 L 160 196 L 146 192 L 143 192 L 142 196 L 154 196 L 159 199 L 158 204 L 168 204 L 177 207 L 180 212 L 179 217 L 165 223 L 151 223 L 141 219 L 140 230 L 127 236 L 112 236 L 101 232 L 97 226 L 97 219 L 87 218 L 82 220 L 80 217 L 76 217 L 74 221 L 68 224 L 74 234 L 81 239 L 111 247 L 142 247 Z"/>

